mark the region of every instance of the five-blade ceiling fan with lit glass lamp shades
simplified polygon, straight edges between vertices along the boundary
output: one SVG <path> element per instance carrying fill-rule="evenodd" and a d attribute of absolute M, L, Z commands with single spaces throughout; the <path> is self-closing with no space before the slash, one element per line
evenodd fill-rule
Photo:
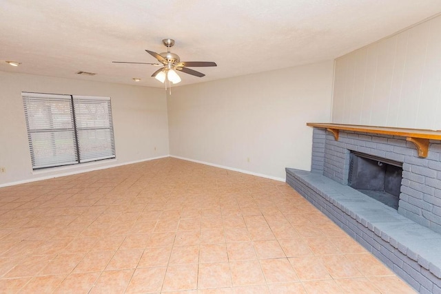
<path fill-rule="evenodd" d="M 202 72 L 197 72 L 188 67 L 207 67 L 207 66 L 217 66 L 216 63 L 210 61 L 181 61 L 178 54 L 170 52 L 170 48 L 174 45 L 173 39 L 163 39 L 163 44 L 167 47 L 167 52 L 156 53 L 150 50 L 145 50 L 148 54 L 156 58 L 160 63 L 143 63 L 143 62 L 126 62 L 126 61 L 112 61 L 112 63 L 134 63 L 134 64 L 150 64 L 161 66 L 159 70 L 156 70 L 152 74 L 154 78 L 161 83 L 165 83 L 165 80 L 176 84 L 181 81 L 181 77 L 178 76 L 176 70 L 179 72 L 185 72 L 185 74 L 191 74 L 192 76 L 203 77 L 205 74 Z"/>

